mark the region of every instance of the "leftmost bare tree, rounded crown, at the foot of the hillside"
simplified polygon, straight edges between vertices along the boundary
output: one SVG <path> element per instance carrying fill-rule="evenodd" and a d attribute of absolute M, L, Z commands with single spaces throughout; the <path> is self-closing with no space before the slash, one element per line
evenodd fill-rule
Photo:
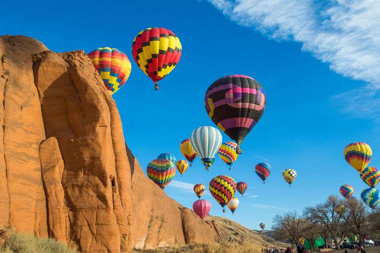
<path fill-rule="evenodd" d="M 288 239 L 292 246 L 296 246 L 299 240 L 304 236 L 305 220 L 296 213 L 286 213 L 277 215 L 273 219 L 272 229 L 275 231 L 277 239 Z"/>

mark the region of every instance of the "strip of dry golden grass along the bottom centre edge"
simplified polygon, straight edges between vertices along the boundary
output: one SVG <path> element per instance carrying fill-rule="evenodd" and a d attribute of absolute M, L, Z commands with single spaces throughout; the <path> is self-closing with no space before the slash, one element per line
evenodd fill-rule
<path fill-rule="evenodd" d="M 162 247 L 157 249 L 134 249 L 132 252 L 144 253 L 255 253 L 261 252 L 261 247 L 250 243 L 210 243 L 210 244 L 187 244 L 184 246 Z"/>

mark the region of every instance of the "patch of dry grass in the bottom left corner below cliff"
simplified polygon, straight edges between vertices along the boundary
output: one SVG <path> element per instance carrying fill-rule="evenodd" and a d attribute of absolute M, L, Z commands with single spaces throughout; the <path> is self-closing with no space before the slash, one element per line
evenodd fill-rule
<path fill-rule="evenodd" d="M 78 251 L 52 238 L 38 238 L 15 233 L 11 228 L 0 228 L 0 252 L 75 253 Z"/>

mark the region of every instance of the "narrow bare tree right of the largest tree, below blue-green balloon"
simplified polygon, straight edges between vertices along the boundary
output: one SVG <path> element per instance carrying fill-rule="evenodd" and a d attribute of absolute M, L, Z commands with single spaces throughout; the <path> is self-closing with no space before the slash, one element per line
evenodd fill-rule
<path fill-rule="evenodd" d="M 368 212 L 364 203 L 358 199 L 348 199 L 347 212 L 350 212 L 348 226 L 350 232 L 358 235 L 360 244 L 364 245 L 364 239 L 368 235 L 369 227 L 367 224 Z"/>

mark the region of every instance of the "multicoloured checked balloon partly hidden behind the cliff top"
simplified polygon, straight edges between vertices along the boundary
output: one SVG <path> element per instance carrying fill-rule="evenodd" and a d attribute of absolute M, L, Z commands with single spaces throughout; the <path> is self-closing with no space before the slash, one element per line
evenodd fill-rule
<path fill-rule="evenodd" d="M 111 94 L 117 92 L 131 73 L 128 57 L 116 48 L 97 48 L 88 54 L 95 69 Z"/>

